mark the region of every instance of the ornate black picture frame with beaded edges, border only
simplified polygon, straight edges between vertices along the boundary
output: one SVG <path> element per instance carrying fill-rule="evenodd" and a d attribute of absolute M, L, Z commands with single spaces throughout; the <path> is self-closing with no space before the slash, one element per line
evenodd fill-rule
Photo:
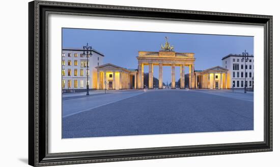
<path fill-rule="evenodd" d="M 48 153 L 48 14 L 264 26 L 264 142 Z M 29 164 L 63 165 L 272 151 L 272 16 L 49 1 L 29 3 Z"/>

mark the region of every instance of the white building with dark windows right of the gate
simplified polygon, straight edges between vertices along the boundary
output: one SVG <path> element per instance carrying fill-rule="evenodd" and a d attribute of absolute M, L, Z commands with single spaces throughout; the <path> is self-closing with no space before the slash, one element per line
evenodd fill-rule
<path fill-rule="evenodd" d="M 246 88 L 254 89 L 254 56 L 248 55 L 247 62 L 242 58 L 242 54 L 229 54 L 222 58 L 222 67 L 229 70 L 229 88 L 244 89 L 247 84 Z"/>

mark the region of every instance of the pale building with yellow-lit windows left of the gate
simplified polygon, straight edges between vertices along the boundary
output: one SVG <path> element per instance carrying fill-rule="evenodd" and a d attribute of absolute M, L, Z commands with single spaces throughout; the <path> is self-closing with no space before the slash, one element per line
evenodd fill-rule
<path fill-rule="evenodd" d="M 62 49 L 62 89 L 86 89 L 87 75 L 89 75 L 89 88 L 97 89 L 96 66 L 103 64 L 104 54 L 92 49 L 89 56 L 89 71 L 87 71 L 87 55 L 82 49 Z"/>

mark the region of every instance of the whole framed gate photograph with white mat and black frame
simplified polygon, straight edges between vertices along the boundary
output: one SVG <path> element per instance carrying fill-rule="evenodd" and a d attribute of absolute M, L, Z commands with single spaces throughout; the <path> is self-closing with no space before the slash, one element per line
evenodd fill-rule
<path fill-rule="evenodd" d="M 29 3 L 29 164 L 272 151 L 272 16 Z"/>

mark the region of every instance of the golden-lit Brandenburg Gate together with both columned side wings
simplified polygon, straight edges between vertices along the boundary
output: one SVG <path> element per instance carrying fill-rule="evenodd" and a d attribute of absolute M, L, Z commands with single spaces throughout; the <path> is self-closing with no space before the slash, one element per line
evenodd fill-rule
<path fill-rule="evenodd" d="M 194 53 L 175 52 L 174 47 L 165 41 L 159 51 L 138 51 L 136 57 L 138 69 L 126 69 L 114 64 L 104 64 L 95 67 L 97 69 L 97 89 L 144 89 L 144 66 L 149 66 L 149 89 L 153 89 L 154 66 L 159 68 L 159 86 L 162 89 L 162 67 L 171 66 L 172 84 L 171 88 L 176 89 L 175 67 L 180 67 L 180 88 L 185 89 L 185 67 L 189 68 L 190 89 L 229 89 L 231 78 L 229 70 L 220 66 L 206 70 L 194 70 Z"/>

